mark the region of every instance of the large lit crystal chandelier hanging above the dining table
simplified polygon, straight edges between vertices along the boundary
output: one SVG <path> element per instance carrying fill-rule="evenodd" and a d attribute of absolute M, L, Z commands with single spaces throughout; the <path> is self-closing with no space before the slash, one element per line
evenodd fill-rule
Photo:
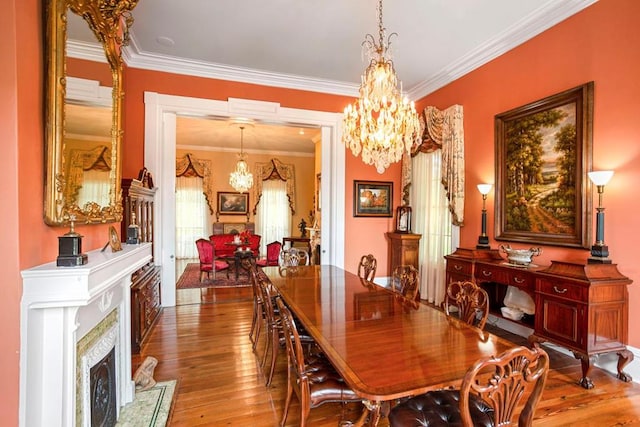
<path fill-rule="evenodd" d="M 391 33 L 386 39 L 382 25 L 382 0 L 378 3 L 378 43 L 367 34 L 362 43 L 369 57 L 369 66 L 362 76 L 360 97 L 344 110 L 342 140 L 354 156 L 362 151 L 362 161 L 374 165 L 383 173 L 391 163 L 409 154 L 420 141 L 420 121 L 415 105 L 402 97 L 402 83 L 390 59 Z"/>

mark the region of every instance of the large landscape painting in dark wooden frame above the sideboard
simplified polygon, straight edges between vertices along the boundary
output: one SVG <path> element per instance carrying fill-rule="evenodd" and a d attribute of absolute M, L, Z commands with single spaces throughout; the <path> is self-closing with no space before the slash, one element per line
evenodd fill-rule
<path fill-rule="evenodd" d="M 495 117 L 496 240 L 588 248 L 593 82 Z"/>

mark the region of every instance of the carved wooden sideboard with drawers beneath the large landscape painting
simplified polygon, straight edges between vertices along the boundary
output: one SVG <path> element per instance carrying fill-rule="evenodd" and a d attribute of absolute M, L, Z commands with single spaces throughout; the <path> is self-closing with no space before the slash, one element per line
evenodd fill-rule
<path fill-rule="evenodd" d="M 529 342 L 549 341 L 572 351 L 582 364 L 582 387 L 593 387 L 590 360 L 601 353 L 616 353 L 618 378 L 631 381 L 623 371 L 633 360 L 626 347 L 631 280 L 615 264 L 552 261 L 550 266 L 518 267 L 493 249 L 459 248 L 445 258 L 447 283 L 471 280 L 481 285 L 495 316 L 502 317 L 508 286 L 531 295 L 535 313 L 521 322 L 533 328 Z"/>

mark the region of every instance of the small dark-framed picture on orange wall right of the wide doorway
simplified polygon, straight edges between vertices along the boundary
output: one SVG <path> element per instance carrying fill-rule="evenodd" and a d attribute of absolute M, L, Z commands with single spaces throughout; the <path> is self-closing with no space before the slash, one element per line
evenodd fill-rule
<path fill-rule="evenodd" d="M 393 182 L 353 181 L 353 216 L 390 217 Z"/>

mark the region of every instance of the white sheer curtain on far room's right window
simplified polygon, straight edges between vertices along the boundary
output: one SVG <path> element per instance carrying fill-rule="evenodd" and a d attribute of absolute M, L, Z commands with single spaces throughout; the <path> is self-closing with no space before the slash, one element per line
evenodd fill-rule
<path fill-rule="evenodd" d="M 287 183 L 279 179 L 262 182 L 262 197 L 256 215 L 256 233 L 262 236 L 260 253 L 266 254 L 266 245 L 291 235 L 291 209 L 287 197 Z"/>

